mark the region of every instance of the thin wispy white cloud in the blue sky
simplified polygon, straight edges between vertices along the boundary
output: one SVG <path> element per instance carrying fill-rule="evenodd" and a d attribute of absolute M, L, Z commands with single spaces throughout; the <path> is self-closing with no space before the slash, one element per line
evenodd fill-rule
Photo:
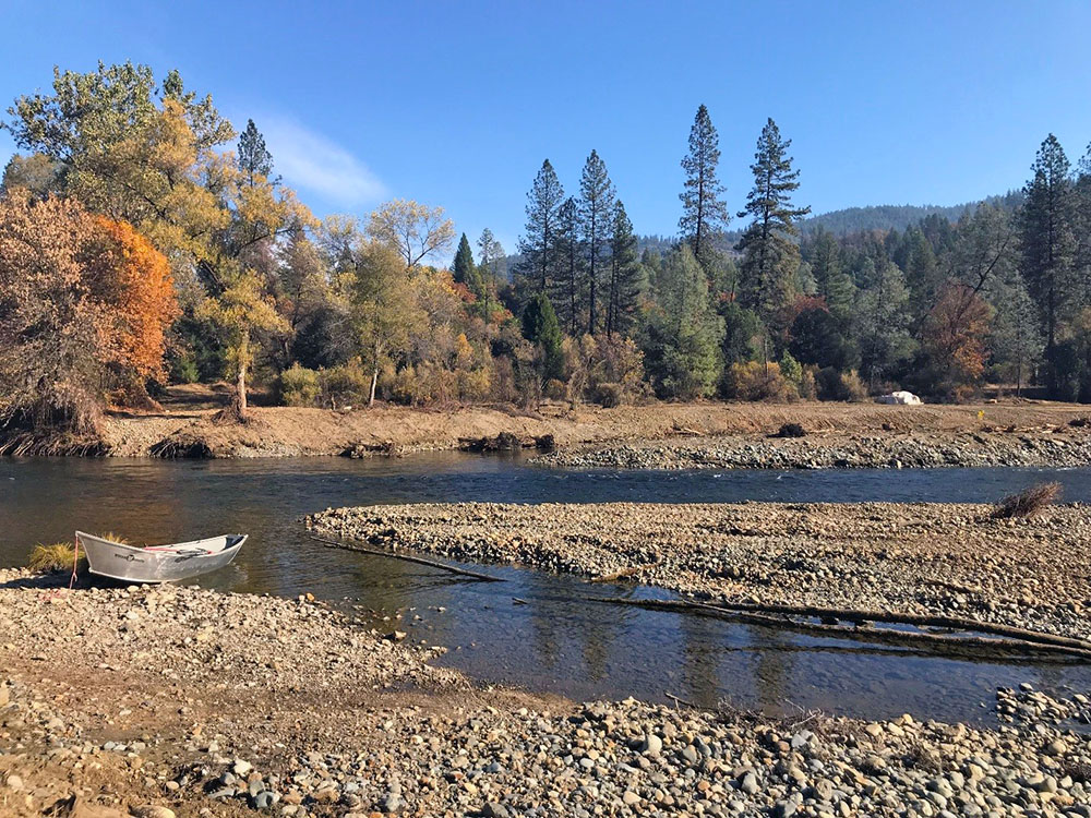
<path fill-rule="evenodd" d="M 277 117 L 264 117 L 257 128 L 276 172 L 292 187 L 338 205 L 372 204 L 386 195 L 386 185 L 360 159 L 322 134 Z"/>

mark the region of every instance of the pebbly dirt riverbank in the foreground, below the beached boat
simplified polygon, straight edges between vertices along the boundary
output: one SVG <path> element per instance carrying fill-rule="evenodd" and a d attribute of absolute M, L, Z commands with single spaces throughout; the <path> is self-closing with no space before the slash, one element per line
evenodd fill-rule
<path fill-rule="evenodd" d="M 996 730 L 469 685 L 320 603 L 0 572 L 0 814 L 1086 817 L 1087 699 Z M 1082 700 L 1081 700 L 1082 699 Z"/>

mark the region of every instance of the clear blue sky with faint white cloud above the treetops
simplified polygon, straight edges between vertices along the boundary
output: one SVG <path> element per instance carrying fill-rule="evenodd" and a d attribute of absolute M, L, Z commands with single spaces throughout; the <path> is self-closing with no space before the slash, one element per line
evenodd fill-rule
<path fill-rule="evenodd" d="M 0 29 L 4 107 L 53 64 L 178 68 L 237 128 L 255 120 L 320 215 L 417 199 L 509 251 L 542 159 L 575 192 L 591 148 L 637 231 L 673 233 L 702 103 L 732 210 L 766 117 L 816 213 L 1003 193 L 1047 132 L 1074 163 L 1091 142 L 1091 3 L 1076 0 L 0 0 Z M 0 133 L 0 161 L 13 149 Z"/>

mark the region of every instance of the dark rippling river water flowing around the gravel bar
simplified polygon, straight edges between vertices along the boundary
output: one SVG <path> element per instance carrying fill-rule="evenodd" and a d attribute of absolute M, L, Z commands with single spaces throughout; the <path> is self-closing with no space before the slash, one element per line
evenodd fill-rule
<path fill-rule="evenodd" d="M 488 568 L 508 582 L 467 581 L 323 548 L 299 520 L 328 506 L 410 502 L 992 502 L 1042 480 L 1062 482 L 1068 500 L 1091 501 L 1091 469 L 552 471 L 517 457 L 456 453 L 374 460 L 0 458 L 0 565 L 20 565 L 33 543 L 71 540 L 76 528 L 112 530 L 134 542 L 247 532 L 239 558 L 202 577 L 205 587 L 314 593 L 374 627 L 447 647 L 440 661 L 483 682 L 577 699 L 674 695 L 771 712 L 820 708 L 877 719 L 911 711 L 987 722 L 997 686 L 1030 682 L 1047 690 L 1087 690 L 1091 666 L 975 662 L 574 604 L 564 598 L 669 594 L 508 567 Z"/>

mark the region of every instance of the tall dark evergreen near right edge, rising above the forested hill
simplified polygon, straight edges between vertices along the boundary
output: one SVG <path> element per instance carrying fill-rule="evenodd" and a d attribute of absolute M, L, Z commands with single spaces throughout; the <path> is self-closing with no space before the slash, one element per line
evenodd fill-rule
<path fill-rule="evenodd" d="M 1076 200 L 1068 157 L 1052 133 L 1042 143 L 1020 210 L 1021 272 L 1042 311 L 1046 350 L 1071 303 L 1076 255 Z"/>

